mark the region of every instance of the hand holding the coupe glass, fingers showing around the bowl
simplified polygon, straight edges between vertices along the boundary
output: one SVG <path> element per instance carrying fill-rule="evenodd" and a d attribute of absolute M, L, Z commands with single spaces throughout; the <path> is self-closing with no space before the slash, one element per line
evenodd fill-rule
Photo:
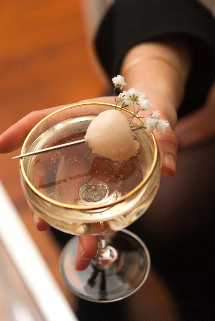
<path fill-rule="evenodd" d="M 114 103 L 114 97 L 100 97 L 92 100 L 86 101 L 100 101 L 100 102 L 111 102 Z M 65 105 L 66 106 L 66 105 Z M 52 113 L 53 111 L 63 108 L 65 106 L 58 106 L 54 108 L 48 108 L 44 110 L 38 110 L 30 113 L 29 115 L 23 117 L 16 124 L 7 129 L 0 136 L 0 152 L 12 152 L 13 150 L 22 146 L 27 134 L 31 129 L 44 117 Z M 165 117 L 167 120 L 168 116 L 164 108 L 159 108 L 159 106 L 154 106 L 153 109 L 159 109 L 162 117 Z M 144 115 L 143 115 L 144 116 Z M 159 150 L 162 159 L 162 173 L 167 176 L 173 176 L 175 174 L 175 160 L 177 153 L 177 140 L 173 133 L 173 130 L 169 128 L 168 132 L 163 135 L 157 135 L 157 142 L 159 145 Z M 165 155 L 171 155 L 170 159 L 167 158 L 165 162 Z M 32 216 L 34 218 L 34 223 L 38 230 L 44 231 L 49 228 L 49 225 L 42 220 L 40 217 L 37 217 L 33 212 L 31 206 L 29 205 Z M 79 237 L 79 247 L 76 257 L 76 269 L 84 270 L 90 260 L 96 255 L 98 248 L 97 237 L 95 236 L 80 236 Z"/>

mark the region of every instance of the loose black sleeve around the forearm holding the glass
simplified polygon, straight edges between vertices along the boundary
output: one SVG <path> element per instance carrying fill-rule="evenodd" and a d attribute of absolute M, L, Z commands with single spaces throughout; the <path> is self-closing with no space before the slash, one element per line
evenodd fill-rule
<path fill-rule="evenodd" d="M 182 116 L 204 103 L 215 75 L 215 20 L 198 1 L 116 0 L 98 30 L 96 49 L 112 78 L 130 48 L 165 35 L 184 37 L 193 50 Z"/>

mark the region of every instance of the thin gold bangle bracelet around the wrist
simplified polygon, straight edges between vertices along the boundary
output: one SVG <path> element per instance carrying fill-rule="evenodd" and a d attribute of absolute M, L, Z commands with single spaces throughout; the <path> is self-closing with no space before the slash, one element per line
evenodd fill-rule
<path fill-rule="evenodd" d="M 121 71 L 121 74 L 123 76 L 125 76 L 131 68 L 133 68 L 135 65 L 139 64 L 140 62 L 143 61 L 147 61 L 147 60 L 158 60 L 158 61 L 162 61 L 164 63 L 166 63 L 167 65 L 169 65 L 172 69 L 175 70 L 175 73 L 177 74 L 178 78 L 180 79 L 180 81 L 182 83 L 184 83 L 183 80 L 183 76 L 180 72 L 180 70 L 178 69 L 178 67 L 176 67 L 171 61 L 167 60 L 166 58 L 163 57 L 159 57 L 159 56 L 139 56 L 137 58 L 134 58 L 133 60 L 131 60 Z"/>

